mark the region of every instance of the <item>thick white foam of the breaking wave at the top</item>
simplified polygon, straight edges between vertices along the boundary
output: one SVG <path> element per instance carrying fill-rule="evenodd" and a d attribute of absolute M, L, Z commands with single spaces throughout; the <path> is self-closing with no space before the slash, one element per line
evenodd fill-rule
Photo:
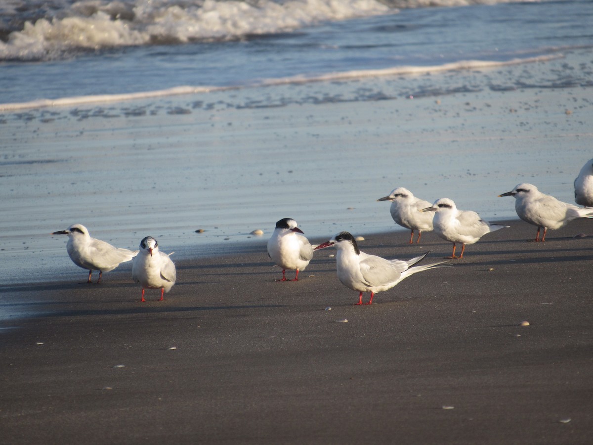
<path fill-rule="evenodd" d="M 17 0 L 18 1 L 18 0 Z M 0 5 L 22 28 L 0 41 L 0 61 L 47 61 L 110 47 L 240 40 L 322 21 L 393 14 L 398 8 L 451 7 L 511 0 L 49 0 L 39 20 Z M 27 9 L 26 2 L 21 5 Z M 31 11 L 28 13 L 32 14 Z M 26 14 L 24 17 L 28 17 Z"/>

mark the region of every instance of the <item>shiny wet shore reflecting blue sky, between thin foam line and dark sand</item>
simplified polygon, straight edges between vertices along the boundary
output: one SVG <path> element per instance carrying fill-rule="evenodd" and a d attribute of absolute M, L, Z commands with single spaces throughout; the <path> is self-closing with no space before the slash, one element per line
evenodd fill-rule
<path fill-rule="evenodd" d="M 337 224 L 390 231 L 388 205 L 376 199 L 400 186 L 493 222 L 515 217 L 496 196 L 518 183 L 572 202 L 591 158 L 589 90 L 8 122 L 0 282 L 64 276 L 65 240 L 49 233 L 74 222 L 129 249 L 151 234 L 170 252 L 241 242 L 286 215 L 311 237 Z M 167 107 L 191 109 L 187 100 Z"/>

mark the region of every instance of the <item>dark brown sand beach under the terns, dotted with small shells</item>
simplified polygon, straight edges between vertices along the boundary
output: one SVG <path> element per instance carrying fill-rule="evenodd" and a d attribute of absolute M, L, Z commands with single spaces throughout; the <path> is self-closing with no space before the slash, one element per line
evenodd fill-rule
<path fill-rule="evenodd" d="M 334 249 L 275 282 L 267 239 L 178 262 L 161 302 L 139 302 L 129 263 L 100 285 L 4 287 L 37 315 L 0 334 L 0 442 L 591 443 L 593 222 L 537 244 L 509 224 L 372 306 L 351 306 Z M 451 252 L 356 235 L 388 258 Z"/>

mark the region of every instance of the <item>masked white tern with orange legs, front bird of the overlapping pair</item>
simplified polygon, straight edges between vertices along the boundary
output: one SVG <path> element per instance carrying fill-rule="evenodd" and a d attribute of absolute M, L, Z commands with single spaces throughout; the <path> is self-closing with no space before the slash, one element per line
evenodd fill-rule
<path fill-rule="evenodd" d="M 462 259 L 463 253 L 466 251 L 466 244 L 474 244 L 487 233 L 509 227 L 484 221 L 474 211 L 459 210 L 449 198 L 437 199 L 432 206 L 422 209 L 422 212 L 435 212 L 432 221 L 435 233 L 442 239 L 453 243 L 452 255 L 445 258 Z M 455 256 L 456 243 L 461 243 L 460 256 Z"/>

